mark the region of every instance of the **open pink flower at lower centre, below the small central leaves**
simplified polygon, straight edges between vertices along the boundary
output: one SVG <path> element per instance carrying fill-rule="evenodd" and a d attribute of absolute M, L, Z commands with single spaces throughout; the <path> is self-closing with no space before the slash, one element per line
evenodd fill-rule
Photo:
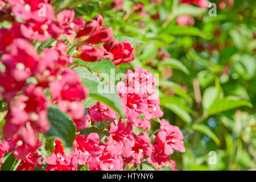
<path fill-rule="evenodd" d="M 114 155 L 122 155 L 128 158 L 132 155 L 131 148 L 134 146 L 133 127 L 130 122 L 123 123 L 119 120 L 118 125 L 110 124 L 107 150 Z"/>

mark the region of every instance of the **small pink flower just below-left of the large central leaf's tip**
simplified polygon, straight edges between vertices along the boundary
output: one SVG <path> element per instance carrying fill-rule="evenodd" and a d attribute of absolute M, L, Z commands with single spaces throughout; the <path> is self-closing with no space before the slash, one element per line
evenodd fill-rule
<path fill-rule="evenodd" d="M 117 112 L 102 102 L 97 102 L 96 105 L 89 107 L 87 110 L 92 122 L 112 121 L 117 118 Z"/>

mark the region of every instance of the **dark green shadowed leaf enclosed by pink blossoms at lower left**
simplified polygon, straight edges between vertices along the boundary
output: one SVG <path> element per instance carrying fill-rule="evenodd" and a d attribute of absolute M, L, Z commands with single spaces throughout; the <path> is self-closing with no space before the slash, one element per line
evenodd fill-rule
<path fill-rule="evenodd" d="M 73 141 L 76 138 L 75 123 L 69 119 L 67 114 L 61 113 L 56 105 L 52 105 L 48 110 L 48 121 L 50 129 L 46 137 L 57 137 L 64 142 L 65 152 L 69 154 L 73 149 Z"/>

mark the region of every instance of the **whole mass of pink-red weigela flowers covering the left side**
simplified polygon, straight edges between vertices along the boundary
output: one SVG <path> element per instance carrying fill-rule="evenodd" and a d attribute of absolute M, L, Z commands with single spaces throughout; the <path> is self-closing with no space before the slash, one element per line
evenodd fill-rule
<path fill-rule="evenodd" d="M 157 169 L 163 166 L 175 169 L 170 155 L 174 150 L 185 152 L 183 134 L 179 127 L 162 119 L 157 136 L 149 137 L 151 119 L 163 117 L 163 111 L 155 93 L 157 80 L 146 69 L 128 70 L 126 78 L 117 84 L 126 118 L 119 119 L 117 111 L 100 101 L 86 108 L 85 115 L 83 101 L 89 89 L 72 69 L 74 64 L 77 66 L 75 57 L 89 62 L 108 59 L 119 65 L 135 59 L 134 48 L 127 40 L 118 42 L 113 38 L 113 31 L 103 27 L 101 15 L 88 22 L 75 18 L 74 10 L 55 15 L 52 2 L 0 2 L 0 10 L 7 12 L 5 20 L 11 20 L 11 28 L 0 29 L 0 94 L 1 105 L 3 101 L 7 110 L 0 138 L 0 159 L 13 152 L 19 161 L 16 170 L 38 167 L 74 171 L 81 166 L 90 170 L 123 170 L 142 161 Z M 120 3 L 115 5 L 118 8 L 122 5 L 122 1 L 116 3 Z M 138 3 L 133 11 L 143 15 L 143 4 Z M 50 45 L 40 48 L 48 41 Z M 170 55 L 160 57 L 164 60 Z M 71 118 L 77 133 L 70 154 L 64 152 L 62 141 L 55 138 L 52 154 L 44 159 L 39 151 L 45 141 L 39 135 L 51 127 L 48 111 L 53 104 Z M 103 121 L 108 123 L 103 126 Z M 104 137 L 94 132 L 82 133 L 98 122 Z M 135 134 L 134 128 L 143 132 Z"/>

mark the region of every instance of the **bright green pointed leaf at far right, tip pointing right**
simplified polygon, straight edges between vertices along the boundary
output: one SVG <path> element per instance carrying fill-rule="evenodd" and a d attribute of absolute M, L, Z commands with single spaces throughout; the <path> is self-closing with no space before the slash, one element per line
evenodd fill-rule
<path fill-rule="evenodd" d="M 216 113 L 220 113 L 222 111 L 234 109 L 236 107 L 241 106 L 249 106 L 252 107 L 250 102 L 244 101 L 244 100 L 238 100 L 234 97 L 230 98 L 224 98 L 222 100 L 217 99 L 213 102 L 212 105 L 207 109 L 207 114 L 212 115 Z"/>

